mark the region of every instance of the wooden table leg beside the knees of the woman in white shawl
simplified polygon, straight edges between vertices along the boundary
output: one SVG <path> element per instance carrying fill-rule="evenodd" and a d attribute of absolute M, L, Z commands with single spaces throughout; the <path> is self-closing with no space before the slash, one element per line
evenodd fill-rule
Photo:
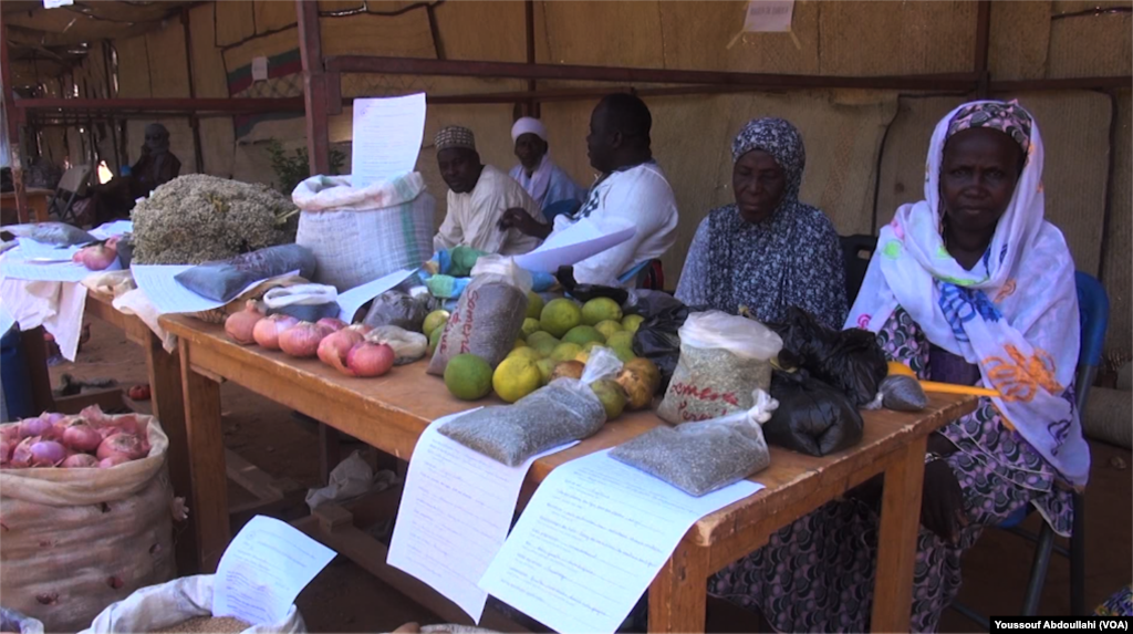
<path fill-rule="evenodd" d="M 909 632 L 927 443 L 927 437 L 911 443 L 885 470 L 870 622 L 874 632 Z"/>

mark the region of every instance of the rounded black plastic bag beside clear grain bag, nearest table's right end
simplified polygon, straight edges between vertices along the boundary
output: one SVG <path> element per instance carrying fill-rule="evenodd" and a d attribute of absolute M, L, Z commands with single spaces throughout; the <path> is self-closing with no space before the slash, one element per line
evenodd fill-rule
<path fill-rule="evenodd" d="M 780 406 L 764 423 L 768 444 L 812 456 L 824 456 L 861 442 L 863 421 L 858 408 L 837 387 L 806 370 L 776 371 L 772 397 Z"/>

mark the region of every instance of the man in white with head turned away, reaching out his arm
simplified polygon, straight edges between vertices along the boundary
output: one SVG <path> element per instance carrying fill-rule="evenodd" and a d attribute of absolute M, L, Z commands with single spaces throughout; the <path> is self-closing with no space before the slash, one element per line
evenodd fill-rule
<path fill-rule="evenodd" d="M 619 277 L 659 258 L 676 239 L 676 199 L 653 160 L 651 127 L 653 117 L 640 98 L 625 93 L 603 98 L 590 115 L 590 134 L 586 137 L 590 165 L 603 175 L 590 188 L 582 208 L 556 216 L 554 226 L 509 209 L 501 229 L 518 228 L 545 239 L 582 219 L 610 231 L 623 228 L 617 221 L 628 221 L 637 226 L 633 238 L 574 265 L 574 280 L 580 284 L 623 285 Z"/>

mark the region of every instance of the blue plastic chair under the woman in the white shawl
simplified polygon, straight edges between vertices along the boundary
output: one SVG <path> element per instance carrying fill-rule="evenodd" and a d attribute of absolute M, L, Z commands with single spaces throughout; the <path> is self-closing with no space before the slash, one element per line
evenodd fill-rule
<path fill-rule="evenodd" d="M 1077 358 L 1077 372 L 1074 377 L 1074 389 L 1080 414 L 1085 411 L 1090 386 L 1098 374 L 1101 363 L 1102 348 L 1106 342 L 1106 327 L 1109 323 L 1109 298 L 1105 288 L 1092 275 L 1077 272 L 1077 310 L 1082 324 L 1082 348 Z M 1034 616 L 1039 608 L 1039 598 L 1047 580 L 1047 568 L 1050 565 L 1050 554 L 1057 552 L 1070 559 L 1070 606 L 1071 616 L 1085 614 L 1085 499 L 1080 492 L 1073 495 L 1074 525 L 1070 538 L 1070 549 L 1055 545 L 1055 532 L 1046 522 L 1039 534 L 1024 531 L 1019 524 L 1033 511 L 1025 505 L 1000 523 L 997 529 L 1033 541 L 1034 560 L 1031 563 L 1031 576 L 1026 583 L 1026 594 L 1023 598 L 1021 616 Z M 991 628 L 988 617 L 972 610 L 962 603 L 952 606 L 957 612 L 979 623 L 985 629 Z"/>

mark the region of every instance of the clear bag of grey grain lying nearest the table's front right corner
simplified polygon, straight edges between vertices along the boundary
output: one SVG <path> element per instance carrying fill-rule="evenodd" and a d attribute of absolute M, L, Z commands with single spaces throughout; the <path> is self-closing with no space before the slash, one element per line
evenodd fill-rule
<path fill-rule="evenodd" d="M 760 425 L 778 406 L 763 389 L 751 409 L 713 420 L 655 427 L 614 447 L 610 456 L 700 497 L 772 463 Z"/>

